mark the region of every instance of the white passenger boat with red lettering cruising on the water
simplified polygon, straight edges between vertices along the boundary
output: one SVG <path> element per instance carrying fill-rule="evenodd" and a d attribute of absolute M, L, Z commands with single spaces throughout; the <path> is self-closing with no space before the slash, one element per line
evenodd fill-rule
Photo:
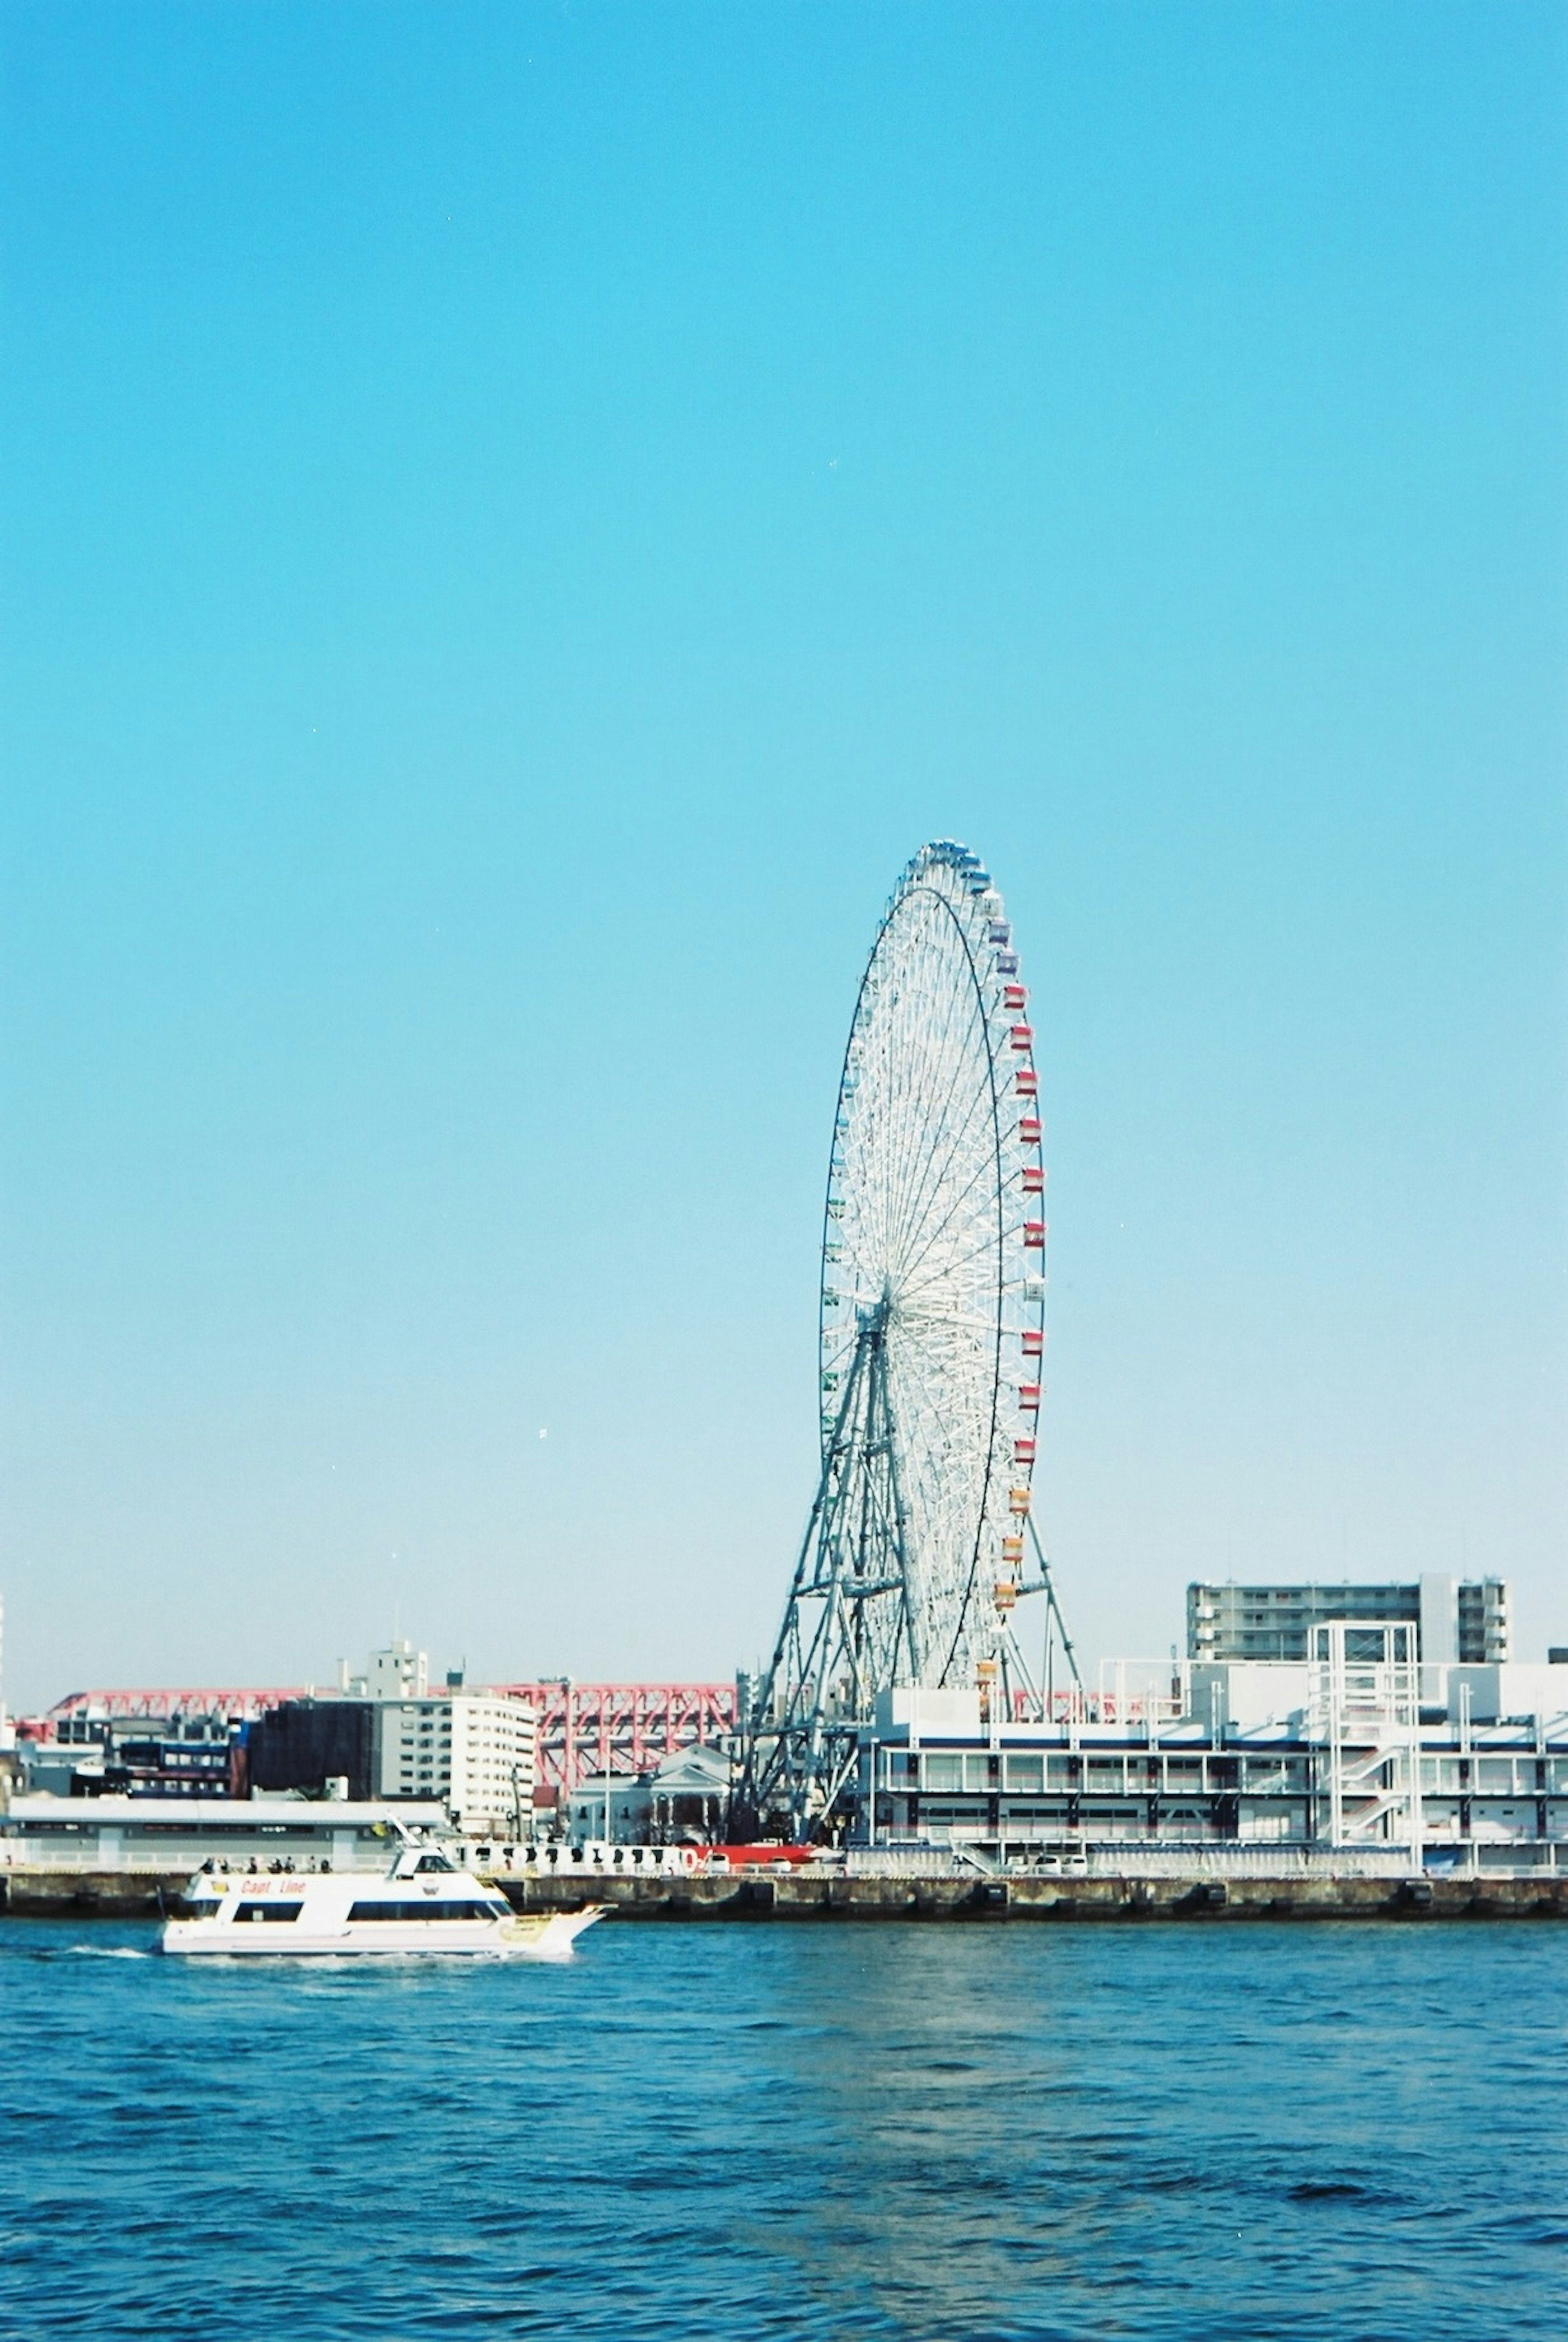
<path fill-rule="evenodd" d="M 498 1888 L 440 1848 L 403 1845 L 391 1871 L 213 1871 L 185 1888 L 161 1949 L 220 1958 L 440 1953 L 564 1960 L 604 1904 L 517 1916 Z"/>

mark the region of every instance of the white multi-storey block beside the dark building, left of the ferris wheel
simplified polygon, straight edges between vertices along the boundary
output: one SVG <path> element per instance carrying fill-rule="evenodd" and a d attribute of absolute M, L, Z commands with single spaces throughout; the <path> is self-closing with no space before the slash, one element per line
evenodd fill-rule
<path fill-rule="evenodd" d="M 487 1691 L 377 1703 L 377 1794 L 435 1796 L 459 1829 L 522 1836 L 534 1815 L 534 1710 Z"/>

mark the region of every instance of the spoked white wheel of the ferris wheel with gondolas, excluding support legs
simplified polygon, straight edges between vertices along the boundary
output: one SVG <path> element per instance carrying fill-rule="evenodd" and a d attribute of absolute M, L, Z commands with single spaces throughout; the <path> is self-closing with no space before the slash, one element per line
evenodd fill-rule
<path fill-rule="evenodd" d="M 974 1682 L 995 1588 L 1020 1576 L 1046 1307 L 1037 1091 L 1002 895 L 978 855 L 927 845 L 854 1005 L 821 1241 L 824 1450 L 880 1321 L 913 1682 Z"/>

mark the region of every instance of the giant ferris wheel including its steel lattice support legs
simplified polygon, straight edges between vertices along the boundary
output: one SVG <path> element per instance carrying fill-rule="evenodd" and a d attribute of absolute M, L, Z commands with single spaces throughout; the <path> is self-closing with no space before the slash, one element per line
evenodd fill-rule
<path fill-rule="evenodd" d="M 861 979 L 821 1241 L 821 1480 L 744 1796 L 831 1806 L 896 1684 L 1011 1675 L 1046 1342 L 1046 1171 L 1002 895 L 953 841 L 906 867 Z M 1039 1548 L 1037 1548 L 1039 1550 Z M 1044 1564 L 1041 1564 L 1044 1567 Z M 1025 1670 L 1027 1675 L 1027 1670 Z"/>

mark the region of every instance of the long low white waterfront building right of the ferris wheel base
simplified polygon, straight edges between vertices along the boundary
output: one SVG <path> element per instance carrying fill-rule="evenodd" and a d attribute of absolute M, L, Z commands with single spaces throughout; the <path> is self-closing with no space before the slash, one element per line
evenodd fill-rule
<path fill-rule="evenodd" d="M 1301 1668 L 1194 1665 L 1175 1693 L 887 1691 L 861 1731 L 854 1841 L 990 1862 L 1100 1848 L 1568 1876 L 1568 1668 L 1453 1668 L 1442 1717 L 1411 1623 L 1327 1621 Z"/>

